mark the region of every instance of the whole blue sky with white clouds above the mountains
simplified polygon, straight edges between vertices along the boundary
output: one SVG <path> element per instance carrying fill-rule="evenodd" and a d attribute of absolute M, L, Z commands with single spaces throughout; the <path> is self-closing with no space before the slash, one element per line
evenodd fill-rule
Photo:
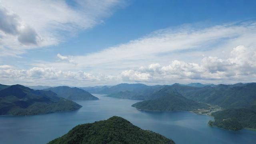
<path fill-rule="evenodd" d="M 256 82 L 255 0 L 0 0 L 0 83 Z"/>

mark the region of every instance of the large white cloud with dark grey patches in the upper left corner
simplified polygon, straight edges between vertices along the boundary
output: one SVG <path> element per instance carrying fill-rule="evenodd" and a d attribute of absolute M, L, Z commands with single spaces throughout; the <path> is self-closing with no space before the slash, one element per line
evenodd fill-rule
<path fill-rule="evenodd" d="M 28 49 L 58 44 L 78 31 L 102 23 L 119 0 L 1 0 L 0 56 L 18 56 Z"/>

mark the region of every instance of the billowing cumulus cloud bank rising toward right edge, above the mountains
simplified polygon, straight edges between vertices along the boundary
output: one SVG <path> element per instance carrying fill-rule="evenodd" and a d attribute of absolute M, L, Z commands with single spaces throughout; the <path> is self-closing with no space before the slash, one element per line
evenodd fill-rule
<path fill-rule="evenodd" d="M 125 80 L 140 82 L 176 82 L 179 80 L 221 80 L 246 81 L 255 80 L 256 76 L 256 49 L 237 46 L 230 52 L 230 57 L 205 57 L 201 63 L 190 63 L 174 60 L 168 66 L 150 64 L 138 70 L 125 70 L 121 73 Z M 246 79 L 244 79 L 246 78 Z"/>

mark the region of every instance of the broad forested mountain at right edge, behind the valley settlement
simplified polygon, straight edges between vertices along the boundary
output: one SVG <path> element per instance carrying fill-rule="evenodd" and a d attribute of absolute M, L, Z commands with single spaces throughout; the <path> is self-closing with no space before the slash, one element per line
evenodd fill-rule
<path fill-rule="evenodd" d="M 225 85 L 180 92 L 186 98 L 221 106 L 222 108 L 256 107 L 256 83 Z"/>

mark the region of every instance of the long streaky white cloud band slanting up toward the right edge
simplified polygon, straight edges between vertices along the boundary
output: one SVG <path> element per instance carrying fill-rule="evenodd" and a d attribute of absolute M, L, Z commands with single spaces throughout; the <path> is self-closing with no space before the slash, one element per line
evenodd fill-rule
<path fill-rule="evenodd" d="M 186 60 L 199 60 L 202 54 L 207 56 L 218 53 L 224 57 L 226 53 L 222 53 L 223 50 L 229 51 L 230 48 L 241 44 L 256 46 L 255 38 L 256 24 L 253 22 L 223 24 L 204 29 L 164 29 L 99 52 L 73 56 L 73 60 L 77 62 L 77 66 L 73 68 L 79 70 L 90 66 L 127 69 L 152 63 L 167 64 L 170 60 L 181 57 Z M 47 63 L 47 66 L 58 67 L 58 63 Z M 70 66 L 62 65 L 62 68 Z"/>

